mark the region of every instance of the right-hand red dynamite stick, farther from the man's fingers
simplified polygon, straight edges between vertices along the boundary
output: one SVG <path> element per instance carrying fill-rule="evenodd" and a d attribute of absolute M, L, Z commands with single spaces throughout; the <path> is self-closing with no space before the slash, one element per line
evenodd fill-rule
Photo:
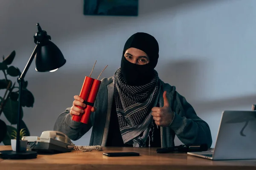
<path fill-rule="evenodd" d="M 101 84 L 101 81 L 99 81 L 97 79 L 93 80 L 93 85 L 91 87 L 90 94 L 89 94 L 88 99 L 87 99 L 87 105 L 84 109 L 84 114 L 82 115 L 81 121 L 80 121 L 84 124 L 87 124 L 88 121 L 89 121 L 90 114 L 91 114 L 91 109 L 93 107 L 96 96 L 98 94 L 100 84 Z M 88 105 L 88 103 L 90 103 L 91 105 Z"/>

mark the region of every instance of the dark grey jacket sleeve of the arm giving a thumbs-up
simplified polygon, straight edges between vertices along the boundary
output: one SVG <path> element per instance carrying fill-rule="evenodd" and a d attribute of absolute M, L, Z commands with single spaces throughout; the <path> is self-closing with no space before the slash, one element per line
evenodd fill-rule
<path fill-rule="evenodd" d="M 177 91 L 173 101 L 174 117 L 169 127 L 175 131 L 180 141 L 184 144 L 207 144 L 210 148 L 212 135 L 207 122 L 197 116 L 192 105 Z"/>

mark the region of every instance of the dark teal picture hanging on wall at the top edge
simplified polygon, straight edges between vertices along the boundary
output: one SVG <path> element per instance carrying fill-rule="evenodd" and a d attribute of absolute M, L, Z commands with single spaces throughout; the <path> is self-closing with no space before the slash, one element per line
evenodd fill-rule
<path fill-rule="evenodd" d="M 139 0 L 84 0 L 84 15 L 138 16 Z"/>

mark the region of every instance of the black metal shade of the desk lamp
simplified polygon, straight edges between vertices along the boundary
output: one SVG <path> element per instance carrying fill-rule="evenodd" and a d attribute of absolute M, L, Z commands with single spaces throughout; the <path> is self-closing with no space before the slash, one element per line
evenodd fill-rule
<path fill-rule="evenodd" d="M 66 63 L 60 49 L 51 41 L 38 44 L 38 50 L 35 54 L 35 66 L 39 72 L 52 71 L 60 68 Z"/>

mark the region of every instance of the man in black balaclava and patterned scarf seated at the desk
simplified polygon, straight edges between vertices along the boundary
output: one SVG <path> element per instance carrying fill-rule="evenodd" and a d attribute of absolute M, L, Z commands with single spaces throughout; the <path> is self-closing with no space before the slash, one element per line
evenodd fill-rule
<path fill-rule="evenodd" d="M 157 40 L 147 33 L 133 34 L 125 43 L 121 67 L 102 79 L 88 124 L 75 122 L 83 113 L 83 99 L 58 116 L 54 130 L 78 140 L 92 129 L 90 145 L 112 147 L 172 147 L 175 135 L 184 144 L 212 145 L 208 124 L 175 89 L 158 77 Z"/>

